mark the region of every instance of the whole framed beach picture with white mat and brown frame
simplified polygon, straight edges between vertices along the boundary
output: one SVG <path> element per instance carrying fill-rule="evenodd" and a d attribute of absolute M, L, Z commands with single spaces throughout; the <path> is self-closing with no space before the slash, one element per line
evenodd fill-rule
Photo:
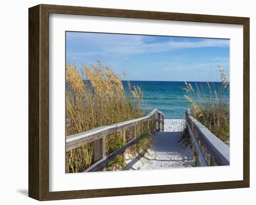
<path fill-rule="evenodd" d="M 29 8 L 29 197 L 249 187 L 249 18 Z"/>

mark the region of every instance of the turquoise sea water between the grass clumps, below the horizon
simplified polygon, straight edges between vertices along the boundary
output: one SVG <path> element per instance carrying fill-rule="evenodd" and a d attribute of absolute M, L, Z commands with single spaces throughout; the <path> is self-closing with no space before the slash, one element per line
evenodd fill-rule
<path fill-rule="evenodd" d="M 127 81 L 122 81 L 124 89 L 128 91 Z M 182 119 L 185 115 L 186 109 L 190 107 L 190 103 L 186 100 L 182 87 L 184 82 L 167 82 L 167 81 L 130 81 L 131 88 L 134 85 L 141 87 L 144 93 L 143 103 L 147 110 L 154 108 L 159 109 L 164 115 L 165 119 Z M 205 96 L 209 96 L 208 85 L 205 82 L 188 82 L 193 88 L 195 83 L 205 91 Z M 210 83 L 214 90 L 221 87 L 221 83 Z M 226 94 L 229 97 L 228 94 Z"/>

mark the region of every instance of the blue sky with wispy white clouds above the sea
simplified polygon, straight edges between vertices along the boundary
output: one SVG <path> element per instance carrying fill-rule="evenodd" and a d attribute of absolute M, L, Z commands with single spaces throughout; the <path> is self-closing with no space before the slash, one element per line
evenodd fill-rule
<path fill-rule="evenodd" d="M 220 81 L 217 63 L 229 77 L 229 39 L 66 32 L 66 58 L 111 64 L 122 80 Z"/>

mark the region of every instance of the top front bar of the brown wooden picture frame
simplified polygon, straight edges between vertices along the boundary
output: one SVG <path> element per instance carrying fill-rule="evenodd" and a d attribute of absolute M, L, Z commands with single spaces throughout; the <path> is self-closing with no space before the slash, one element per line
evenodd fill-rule
<path fill-rule="evenodd" d="M 141 11 L 128 9 L 97 8 L 83 6 L 63 6 L 47 5 L 44 8 L 49 9 L 51 13 L 71 14 L 71 15 L 88 15 L 88 16 L 107 16 L 119 18 L 135 19 L 154 19 L 154 20 L 171 20 L 171 21 L 188 21 L 220 24 L 239 24 L 243 25 L 246 17 L 220 16 L 194 13 L 170 13 L 156 11 Z M 62 9 L 60 12 L 59 9 Z"/>

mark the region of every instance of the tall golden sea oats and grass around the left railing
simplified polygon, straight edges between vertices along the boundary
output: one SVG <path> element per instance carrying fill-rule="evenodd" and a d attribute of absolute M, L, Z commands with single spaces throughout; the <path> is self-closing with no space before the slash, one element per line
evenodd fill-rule
<path fill-rule="evenodd" d="M 125 74 L 124 74 L 125 75 Z M 129 95 L 125 95 L 121 78 L 110 68 L 91 64 L 91 69 L 84 66 L 81 72 L 74 64 L 66 65 L 66 135 L 74 135 L 87 130 L 123 122 L 143 116 L 141 108 L 142 91 L 140 87 L 131 88 L 128 82 Z M 136 126 L 136 134 L 148 133 L 146 126 Z M 133 130 L 127 129 L 126 142 L 131 140 Z M 122 140 L 122 133 L 106 137 L 106 154 L 110 154 L 126 142 Z M 149 146 L 149 142 L 141 146 L 140 150 Z M 82 172 L 93 161 L 94 142 L 72 149 L 66 153 L 66 172 Z M 135 150 L 135 146 L 134 150 Z M 122 156 L 116 157 L 107 165 L 107 170 L 116 170 L 124 167 Z M 114 162 L 114 163 L 113 163 Z"/>

